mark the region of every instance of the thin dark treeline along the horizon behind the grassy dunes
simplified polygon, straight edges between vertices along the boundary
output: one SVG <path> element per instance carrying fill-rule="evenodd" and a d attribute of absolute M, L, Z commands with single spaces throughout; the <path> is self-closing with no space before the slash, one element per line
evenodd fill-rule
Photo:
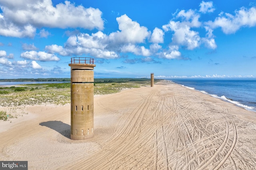
<path fill-rule="evenodd" d="M 94 82 L 148 81 L 148 78 L 94 78 Z M 0 79 L 0 82 L 70 82 L 70 78 L 16 78 Z"/>

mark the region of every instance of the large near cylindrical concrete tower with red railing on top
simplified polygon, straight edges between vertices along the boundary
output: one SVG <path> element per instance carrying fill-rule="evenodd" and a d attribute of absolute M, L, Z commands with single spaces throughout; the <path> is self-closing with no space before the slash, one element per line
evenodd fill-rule
<path fill-rule="evenodd" d="M 71 64 L 71 139 L 94 136 L 94 67 L 92 58 L 72 57 Z"/>

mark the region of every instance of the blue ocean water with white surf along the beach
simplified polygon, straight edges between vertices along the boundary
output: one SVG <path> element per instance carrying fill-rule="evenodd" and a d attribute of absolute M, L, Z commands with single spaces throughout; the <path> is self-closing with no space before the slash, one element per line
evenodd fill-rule
<path fill-rule="evenodd" d="M 172 79 L 171 81 L 256 112 L 256 80 Z"/>

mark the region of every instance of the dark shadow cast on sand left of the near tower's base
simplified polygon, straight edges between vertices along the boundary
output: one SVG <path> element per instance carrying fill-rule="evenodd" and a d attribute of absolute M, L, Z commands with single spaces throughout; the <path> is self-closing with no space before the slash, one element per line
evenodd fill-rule
<path fill-rule="evenodd" d="M 63 123 L 62 121 L 44 121 L 39 123 L 39 125 L 49 127 L 70 139 L 70 125 Z"/>

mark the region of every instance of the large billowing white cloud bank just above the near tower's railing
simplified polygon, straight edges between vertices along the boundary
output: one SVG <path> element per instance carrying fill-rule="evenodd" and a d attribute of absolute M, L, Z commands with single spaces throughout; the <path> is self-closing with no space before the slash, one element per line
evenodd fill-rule
<path fill-rule="evenodd" d="M 48 45 L 45 47 L 48 53 L 58 53 L 62 56 L 90 55 L 92 57 L 114 59 L 120 53 L 133 53 L 135 55 L 150 56 L 150 49 L 136 45 L 144 43 L 150 37 L 151 32 L 146 27 L 140 26 L 136 21 L 132 21 L 128 16 L 122 15 L 116 18 L 120 31 L 104 34 L 102 31 L 92 33 L 78 33 L 71 35 L 63 46 Z M 158 32 L 158 33 L 157 33 Z M 154 40 L 160 42 L 160 29 L 154 30 Z"/>

